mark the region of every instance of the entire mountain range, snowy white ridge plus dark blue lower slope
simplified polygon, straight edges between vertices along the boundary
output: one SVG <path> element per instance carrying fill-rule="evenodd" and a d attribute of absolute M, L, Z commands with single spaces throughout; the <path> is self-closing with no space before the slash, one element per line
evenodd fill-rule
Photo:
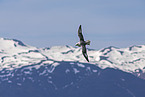
<path fill-rule="evenodd" d="M 0 38 L 0 97 L 145 97 L 145 45 L 88 55 L 89 63 L 81 48 Z"/>

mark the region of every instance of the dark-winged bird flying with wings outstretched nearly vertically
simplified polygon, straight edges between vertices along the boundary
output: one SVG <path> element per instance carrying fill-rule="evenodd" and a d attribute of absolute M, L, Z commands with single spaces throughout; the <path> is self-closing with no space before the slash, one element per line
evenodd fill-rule
<path fill-rule="evenodd" d="M 82 54 L 85 57 L 85 59 L 89 62 L 86 45 L 90 45 L 90 40 L 84 41 L 81 25 L 79 26 L 79 29 L 78 29 L 78 36 L 80 38 L 80 41 L 76 43 L 76 46 L 82 47 Z"/>

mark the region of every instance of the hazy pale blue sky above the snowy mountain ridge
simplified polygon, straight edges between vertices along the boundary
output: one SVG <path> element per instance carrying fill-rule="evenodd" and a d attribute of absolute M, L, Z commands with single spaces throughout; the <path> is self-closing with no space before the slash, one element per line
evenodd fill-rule
<path fill-rule="evenodd" d="M 89 48 L 145 44 L 145 0 L 0 0 L 0 37 L 74 46 L 80 24 Z"/>

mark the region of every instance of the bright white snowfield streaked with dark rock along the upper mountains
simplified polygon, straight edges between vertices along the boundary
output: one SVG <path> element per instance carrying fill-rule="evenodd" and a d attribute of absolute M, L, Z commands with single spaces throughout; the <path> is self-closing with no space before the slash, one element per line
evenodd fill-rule
<path fill-rule="evenodd" d="M 88 49 L 90 64 L 102 69 L 115 68 L 125 72 L 145 72 L 145 45 L 129 48 L 108 47 L 101 50 Z M 0 69 L 13 70 L 23 66 L 52 64 L 58 66 L 59 61 L 88 63 L 82 55 L 81 48 L 72 46 L 54 46 L 36 48 L 16 39 L 0 38 Z M 79 66 L 84 67 L 83 64 Z M 75 70 L 76 73 L 78 72 Z"/>

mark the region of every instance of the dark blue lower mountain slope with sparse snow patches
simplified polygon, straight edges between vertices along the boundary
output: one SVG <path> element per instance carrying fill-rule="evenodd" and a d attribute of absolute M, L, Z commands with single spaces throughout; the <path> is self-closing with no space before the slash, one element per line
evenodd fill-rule
<path fill-rule="evenodd" d="M 50 64 L 41 68 L 26 66 L 3 70 L 2 97 L 144 97 L 145 81 L 115 69 L 101 69 L 83 63 L 59 62 L 53 72 Z M 80 67 L 81 66 L 81 67 Z"/>

